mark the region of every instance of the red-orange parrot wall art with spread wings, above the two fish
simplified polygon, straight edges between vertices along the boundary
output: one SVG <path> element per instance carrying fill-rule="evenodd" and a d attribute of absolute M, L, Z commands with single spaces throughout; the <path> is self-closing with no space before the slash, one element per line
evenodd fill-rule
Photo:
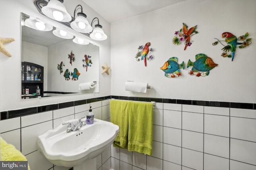
<path fill-rule="evenodd" d="M 188 29 L 188 25 L 186 23 L 182 23 L 182 24 L 183 26 L 180 29 L 180 31 L 175 31 L 174 33 L 175 36 L 172 39 L 172 43 L 174 45 L 180 45 L 182 42 L 184 42 L 185 44 L 184 50 L 186 50 L 186 48 L 190 46 L 193 42 L 190 40 L 190 37 L 192 35 L 197 34 L 198 31 L 196 31 L 197 25 Z"/>

